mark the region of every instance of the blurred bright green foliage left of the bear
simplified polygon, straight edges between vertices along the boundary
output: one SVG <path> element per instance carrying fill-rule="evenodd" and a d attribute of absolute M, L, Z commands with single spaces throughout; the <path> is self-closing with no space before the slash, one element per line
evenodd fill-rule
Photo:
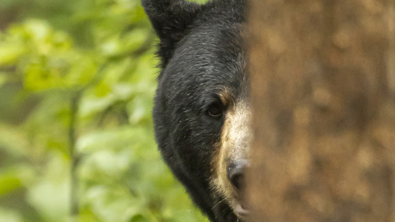
<path fill-rule="evenodd" d="M 1 222 L 207 221 L 153 139 L 155 43 L 139 0 L 1 0 Z"/>

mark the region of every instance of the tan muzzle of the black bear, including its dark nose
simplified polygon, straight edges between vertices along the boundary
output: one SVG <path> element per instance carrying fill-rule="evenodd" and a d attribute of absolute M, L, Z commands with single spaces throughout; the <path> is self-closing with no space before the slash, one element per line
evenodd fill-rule
<path fill-rule="evenodd" d="M 219 152 L 213 158 L 213 188 L 225 199 L 233 213 L 244 220 L 248 216 L 245 201 L 245 173 L 249 167 L 251 112 L 243 101 L 229 107 L 222 127 Z"/>

